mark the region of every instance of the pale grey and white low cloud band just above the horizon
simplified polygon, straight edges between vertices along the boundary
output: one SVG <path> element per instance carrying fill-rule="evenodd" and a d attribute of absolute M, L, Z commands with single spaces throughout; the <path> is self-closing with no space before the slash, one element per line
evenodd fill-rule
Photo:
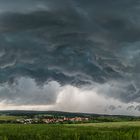
<path fill-rule="evenodd" d="M 139 104 L 124 103 L 98 93 L 95 87 L 61 86 L 56 81 L 37 85 L 21 77 L 0 86 L 0 109 L 61 110 L 100 114 L 139 115 Z M 133 108 L 131 107 L 133 106 Z M 131 110 L 129 109 L 131 107 Z"/>

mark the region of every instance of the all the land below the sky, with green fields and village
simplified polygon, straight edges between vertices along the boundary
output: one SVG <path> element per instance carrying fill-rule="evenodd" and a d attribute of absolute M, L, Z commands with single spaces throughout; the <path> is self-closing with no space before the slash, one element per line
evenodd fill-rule
<path fill-rule="evenodd" d="M 140 140 L 140 117 L 1 111 L 0 140 Z"/>

